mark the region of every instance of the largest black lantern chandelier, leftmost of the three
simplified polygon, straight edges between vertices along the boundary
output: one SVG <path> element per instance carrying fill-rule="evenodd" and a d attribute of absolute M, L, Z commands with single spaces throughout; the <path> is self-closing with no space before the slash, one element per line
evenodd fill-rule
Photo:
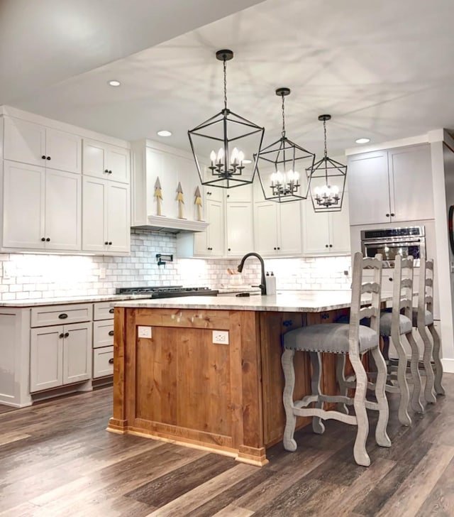
<path fill-rule="evenodd" d="M 202 185 L 239 187 L 253 183 L 265 128 L 228 109 L 226 62 L 233 52 L 218 50 L 216 58 L 223 62 L 224 107 L 188 131 L 189 142 Z"/>

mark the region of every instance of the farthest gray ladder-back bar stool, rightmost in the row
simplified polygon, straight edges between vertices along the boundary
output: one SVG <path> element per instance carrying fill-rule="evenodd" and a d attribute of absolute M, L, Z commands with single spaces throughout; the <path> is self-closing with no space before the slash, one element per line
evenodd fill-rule
<path fill-rule="evenodd" d="M 440 359 L 441 339 L 433 325 L 433 260 L 421 257 L 419 265 L 418 307 L 413 309 L 413 325 L 418 329 L 423 341 L 423 365 L 426 373 L 424 398 L 428 403 L 436 403 L 436 395 L 444 395 L 441 385 L 443 366 Z M 431 338 L 428 337 L 431 333 Z M 431 359 L 435 365 L 433 373 Z"/>

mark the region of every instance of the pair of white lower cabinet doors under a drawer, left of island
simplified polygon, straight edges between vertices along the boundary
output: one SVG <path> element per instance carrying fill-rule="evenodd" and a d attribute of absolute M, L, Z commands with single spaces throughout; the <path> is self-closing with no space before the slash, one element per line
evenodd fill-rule
<path fill-rule="evenodd" d="M 92 376 L 92 324 L 71 323 L 31 330 L 30 391 L 42 391 Z"/>

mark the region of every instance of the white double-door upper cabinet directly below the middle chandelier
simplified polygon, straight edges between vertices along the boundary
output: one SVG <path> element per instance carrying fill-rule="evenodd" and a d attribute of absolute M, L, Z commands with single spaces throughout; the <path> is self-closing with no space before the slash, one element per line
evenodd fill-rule
<path fill-rule="evenodd" d="M 255 251 L 263 256 L 301 254 L 301 202 L 264 201 L 260 183 L 254 183 Z"/>

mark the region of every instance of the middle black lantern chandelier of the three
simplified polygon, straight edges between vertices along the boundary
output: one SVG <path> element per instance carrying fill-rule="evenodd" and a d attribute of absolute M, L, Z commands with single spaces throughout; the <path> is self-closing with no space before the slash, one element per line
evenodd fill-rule
<path fill-rule="evenodd" d="M 298 146 L 285 133 L 284 99 L 289 88 L 278 88 L 276 95 L 282 97 L 281 138 L 258 153 L 258 177 L 266 200 L 279 203 L 305 200 L 309 195 L 306 170 L 314 165 L 315 154 Z"/>

